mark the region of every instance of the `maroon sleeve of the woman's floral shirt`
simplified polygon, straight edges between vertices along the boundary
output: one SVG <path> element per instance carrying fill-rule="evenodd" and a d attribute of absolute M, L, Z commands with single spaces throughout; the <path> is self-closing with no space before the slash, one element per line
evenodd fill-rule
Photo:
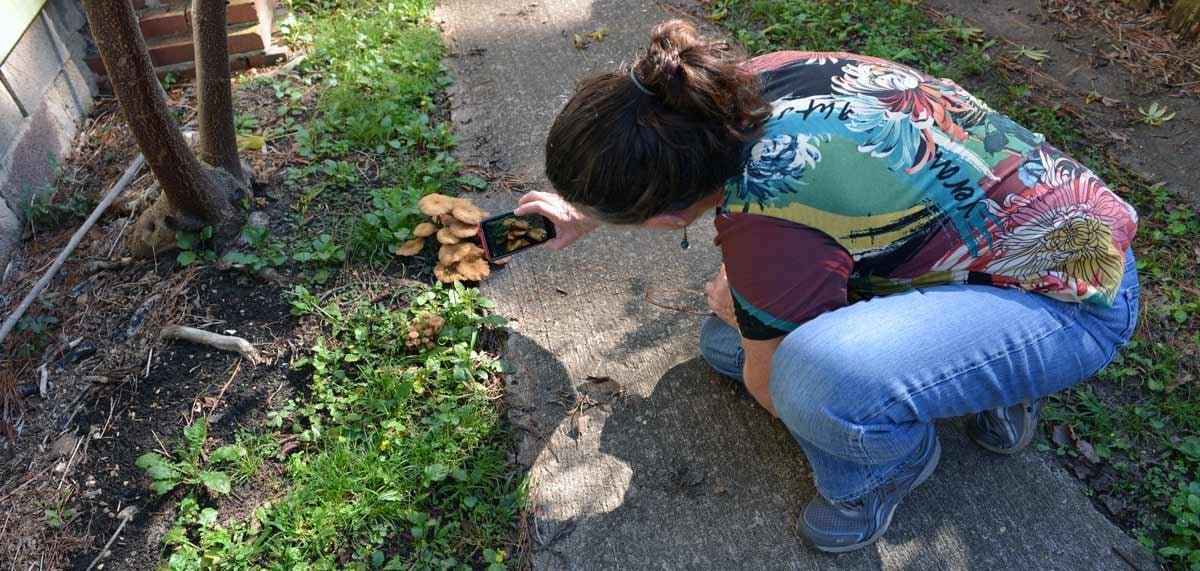
<path fill-rule="evenodd" d="M 748 339 L 787 335 L 821 313 L 847 305 L 854 263 L 827 234 L 750 214 L 716 217 L 716 245 L 733 293 L 738 329 Z"/>

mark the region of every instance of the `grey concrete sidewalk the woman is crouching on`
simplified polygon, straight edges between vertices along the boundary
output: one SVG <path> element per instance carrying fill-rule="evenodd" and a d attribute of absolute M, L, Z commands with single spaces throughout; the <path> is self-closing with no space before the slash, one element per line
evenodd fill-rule
<path fill-rule="evenodd" d="M 446 0 L 461 158 L 548 187 L 542 143 L 575 82 L 635 58 L 678 7 Z M 602 41 L 572 47 L 600 29 Z M 499 210 L 516 198 L 485 200 Z M 506 357 L 518 367 L 510 401 L 533 480 L 535 569 L 1152 569 L 1042 455 L 983 452 L 956 420 L 938 426 L 942 464 L 882 541 L 840 557 L 805 547 L 796 519 L 815 491 L 799 446 L 700 360 L 701 318 L 643 300 L 702 289 L 719 265 L 712 238 L 710 220 L 688 251 L 677 234 L 605 229 L 563 253 L 521 254 L 486 282 L 516 320 Z M 703 307 L 698 295 L 677 301 Z"/>

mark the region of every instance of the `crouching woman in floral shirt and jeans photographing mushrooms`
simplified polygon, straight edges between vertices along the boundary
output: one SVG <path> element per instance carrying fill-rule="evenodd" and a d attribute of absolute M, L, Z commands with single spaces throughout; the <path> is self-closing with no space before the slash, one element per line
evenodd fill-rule
<path fill-rule="evenodd" d="M 934 471 L 934 420 L 1024 449 L 1042 398 L 1096 374 L 1138 313 L 1136 214 L 947 79 L 844 53 L 752 60 L 682 22 L 583 82 L 546 142 L 560 248 L 598 222 L 685 229 L 724 264 L 701 350 L 804 449 L 799 529 L 862 548 Z M 684 234 L 686 236 L 686 234 Z M 686 244 L 686 240 L 685 242 Z"/>

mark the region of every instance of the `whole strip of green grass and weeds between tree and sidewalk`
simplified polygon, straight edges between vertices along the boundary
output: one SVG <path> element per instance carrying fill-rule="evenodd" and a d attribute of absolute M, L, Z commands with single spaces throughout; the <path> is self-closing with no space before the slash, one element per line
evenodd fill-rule
<path fill-rule="evenodd" d="M 308 392 L 263 426 L 216 443 L 198 419 L 173 453 L 139 458 L 152 489 L 178 499 L 166 567 L 511 564 L 526 483 L 500 414 L 505 363 L 480 347 L 505 320 L 458 284 L 317 289 L 346 264 L 380 270 L 422 196 L 482 184 L 451 157 L 431 4 L 294 0 L 284 34 L 308 56 L 292 73 L 239 83 L 274 91 L 276 132 L 256 133 L 252 114 L 238 125 L 244 140 L 292 145 L 282 179 L 295 224 L 286 238 L 247 227 L 248 246 L 226 262 L 294 263 L 310 283 L 288 293 L 293 313 L 320 335 L 294 363 L 311 373 Z M 203 235 L 181 242 L 190 264 L 212 262 Z M 256 497 L 270 499 L 244 499 Z"/>

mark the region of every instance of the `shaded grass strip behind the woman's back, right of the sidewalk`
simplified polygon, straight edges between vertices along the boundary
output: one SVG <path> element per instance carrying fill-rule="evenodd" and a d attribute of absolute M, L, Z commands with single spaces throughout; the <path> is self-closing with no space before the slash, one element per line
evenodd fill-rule
<path fill-rule="evenodd" d="M 710 17 L 754 54 L 780 49 L 853 52 L 948 77 L 997 110 L 1084 161 L 1141 215 L 1134 242 L 1141 321 L 1134 341 L 1098 378 L 1052 398 L 1048 425 L 1074 431 L 1115 483 L 1090 481 L 1118 500 L 1123 523 L 1162 563 L 1200 569 L 1200 218 L 1162 185 L 1123 168 L 1090 140 L 1072 106 L 1036 98 L 1009 79 L 1002 50 L 982 30 L 902 0 L 724 0 Z M 1036 60 L 1038 54 L 1034 54 Z M 1010 60 L 1008 61 L 1012 62 Z M 1030 64 L 1026 61 L 1025 64 Z M 1067 457 L 1076 445 L 1042 445 Z"/>

